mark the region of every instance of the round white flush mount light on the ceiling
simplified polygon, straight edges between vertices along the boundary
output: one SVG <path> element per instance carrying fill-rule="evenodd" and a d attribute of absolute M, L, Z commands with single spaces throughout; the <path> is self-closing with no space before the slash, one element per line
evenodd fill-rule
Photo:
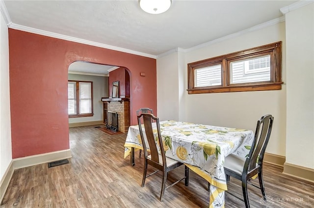
<path fill-rule="evenodd" d="M 150 14 L 160 14 L 171 6 L 171 0 L 139 0 L 139 6 Z"/>

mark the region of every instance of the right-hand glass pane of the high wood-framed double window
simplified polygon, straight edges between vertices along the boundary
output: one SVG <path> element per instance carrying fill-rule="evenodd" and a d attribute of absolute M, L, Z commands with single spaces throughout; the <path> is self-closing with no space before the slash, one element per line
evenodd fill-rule
<path fill-rule="evenodd" d="M 254 64 L 253 64 L 254 62 Z M 270 55 L 230 63 L 230 83 L 270 81 Z"/>

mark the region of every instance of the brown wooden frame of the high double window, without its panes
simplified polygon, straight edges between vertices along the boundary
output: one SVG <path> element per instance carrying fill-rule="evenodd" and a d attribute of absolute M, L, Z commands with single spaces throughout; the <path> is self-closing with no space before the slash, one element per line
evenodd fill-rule
<path fill-rule="evenodd" d="M 200 93 L 219 93 L 219 92 L 244 92 L 261 90 L 281 90 L 281 52 L 282 42 L 276 42 L 248 50 L 233 52 L 201 61 L 187 64 L 187 85 L 188 94 Z M 246 59 L 248 57 L 257 57 L 261 54 L 270 54 L 270 81 L 250 82 L 250 83 L 230 83 L 230 62 Z M 221 83 L 219 86 L 194 87 L 194 71 L 199 68 L 221 64 Z"/>

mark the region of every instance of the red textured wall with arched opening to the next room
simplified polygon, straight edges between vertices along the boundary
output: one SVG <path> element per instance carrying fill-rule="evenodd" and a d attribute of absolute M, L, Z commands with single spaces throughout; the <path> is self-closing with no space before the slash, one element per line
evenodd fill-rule
<path fill-rule="evenodd" d="M 67 81 L 74 61 L 127 68 L 131 125 L 140 107 L 157 113 L 156 59 L 11 28 L 9 55 L 13 158 L 69 149 Z"/>

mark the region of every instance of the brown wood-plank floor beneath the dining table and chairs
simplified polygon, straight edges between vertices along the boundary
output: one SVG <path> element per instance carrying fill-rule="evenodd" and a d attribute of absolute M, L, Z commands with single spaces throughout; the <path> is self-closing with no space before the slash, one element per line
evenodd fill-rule
<path fill-rule="evenodd" d="M 0 208 L 208 208 L 207 182 L 190 171 L 184 181 L 167 189 L 159 201 L 161 174 L 141 187 L 143 158 L 123 158 L 126 134 L 109 136 L 93 126 L 70 128 L 69 164 L 48 168 L 47 163 L 14 171 Z M 153 169 L 149 167 L 148 171 Z M 249 186 L 251 208 L 313 208 L 314 184 L 286 176 L 282 168 L 264 164 L 268 200 Z M 170 182 L 184 175 L 181 166 L 168 175 Z M 169 182 L 169 183 L 170 183 Z M 168 184 L 169 184 L 168 183 Z M 258 180 L 253 181 L 258 184 Z M 231 178 L 228 190 L 242 197 L 240 182 Z M 226 193 L 226 208 L 243 208 Z"/>

